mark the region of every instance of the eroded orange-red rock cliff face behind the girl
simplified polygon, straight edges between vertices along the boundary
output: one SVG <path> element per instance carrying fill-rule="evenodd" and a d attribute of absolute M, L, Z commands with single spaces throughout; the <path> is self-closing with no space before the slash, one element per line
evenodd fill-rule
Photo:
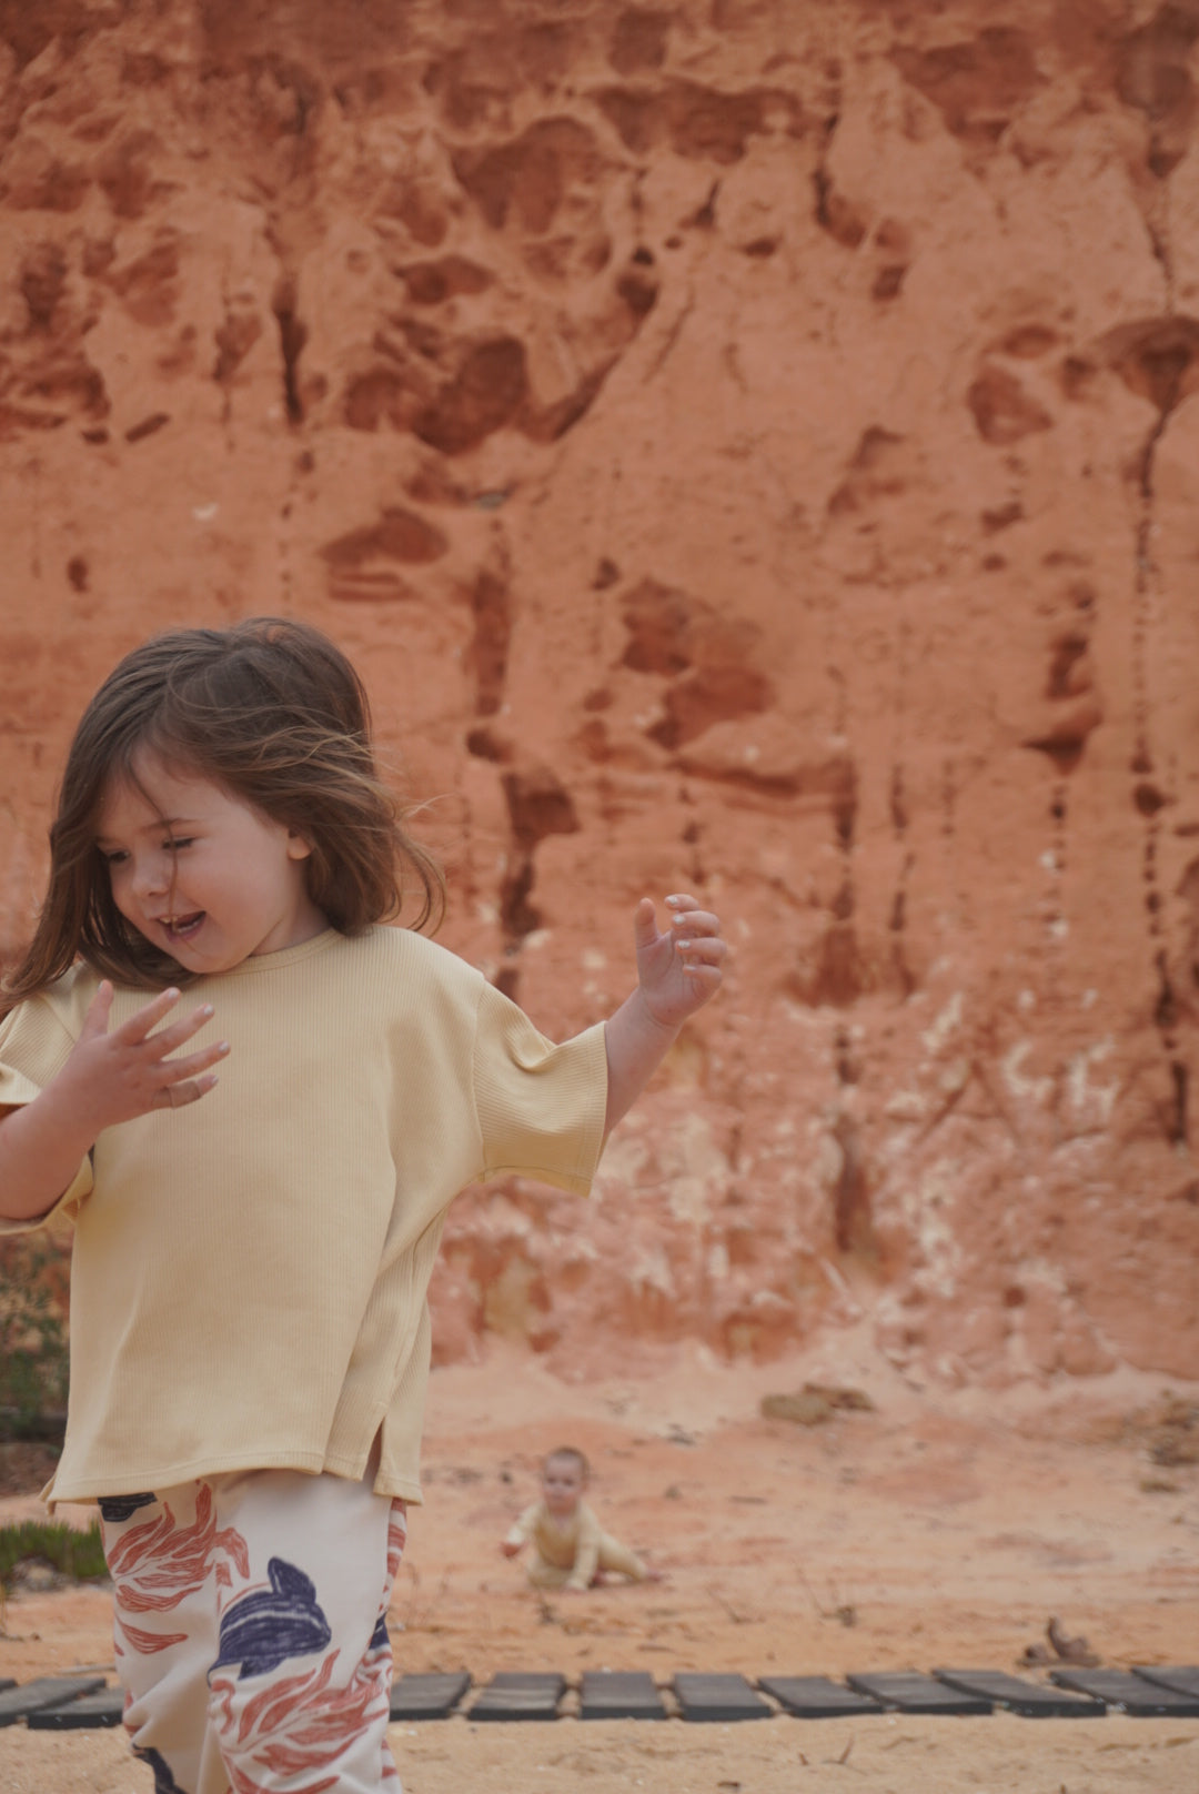
<path fill-rule="evenodd" d="M 293 612 L 551 1033 L 727 992 L 440 1351 L 1199 1362 L 1192 0 L 0 4 L 0 940 L 74 718 Z"/>

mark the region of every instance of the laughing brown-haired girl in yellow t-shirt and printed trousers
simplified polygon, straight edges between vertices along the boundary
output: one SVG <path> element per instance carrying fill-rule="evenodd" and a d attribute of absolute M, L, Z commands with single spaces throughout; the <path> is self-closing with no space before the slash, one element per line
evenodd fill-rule
<path fill-rule="evenodd" d="M 50 841 L 0 1024 L 0 1218 L 75 1224 L 47 1498 L 99 1500 L 126 1726 L 158 1794 L 395 1789 L 386 1611 L 447 1206 L 504 1173 L 589 1189 L 720 985 L 720 924 L 675 895 L 659 933 L 643 899 L 637 988 L 551 1046 L 379 926 L 400 874 L 434 920 L 440 877 L 357 675 L 275 619 L 127 655 Z"/>

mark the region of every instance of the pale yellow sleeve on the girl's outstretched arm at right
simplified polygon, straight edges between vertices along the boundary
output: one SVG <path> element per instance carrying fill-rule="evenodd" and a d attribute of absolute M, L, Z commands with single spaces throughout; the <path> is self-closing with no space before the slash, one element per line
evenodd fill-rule
<path fill-rule="evenodd" d="M 474 1096 L 483 1175 L 524 1175 L 585 1197 L 603 1150 L 603 1023 L 555 1046 L 492 985 L 476 1019 Z"/>

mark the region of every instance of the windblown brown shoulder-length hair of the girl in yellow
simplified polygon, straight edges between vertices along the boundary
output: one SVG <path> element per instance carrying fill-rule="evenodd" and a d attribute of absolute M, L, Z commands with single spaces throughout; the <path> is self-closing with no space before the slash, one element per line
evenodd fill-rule
<path fill-rule="evenodd" d="M 343 935 L 398 915 L 406 872 L 422 893 L 411 926 L 440 922 L 442 870 L 379 779 L 366 691 L 341 649 L 282 617 L 171 630 L 126 655 L 83 714 L 50 829 L 50 886 L 0 1008 L 45 990 L 77 958 L 144 988 L 192 976 L 120 915 L 95 845 L 104 793 L 136 782 L 138 748 L 302 834 L 309 895 Z"/>

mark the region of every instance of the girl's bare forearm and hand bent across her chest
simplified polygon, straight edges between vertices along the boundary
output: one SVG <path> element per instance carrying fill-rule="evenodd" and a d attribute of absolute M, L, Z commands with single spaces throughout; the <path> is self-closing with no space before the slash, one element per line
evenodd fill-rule
<path fill-rule="evenodd" d="M 52 1209 L 101 1128 L 181 1109 L 212 1089 L 208 1066 L 228 1053 L 224 1041 L 167 1060 L 212 1017 L 208 1005 L 151 1032 L 178 1001 L 178 990 L 163 990 L 109 1033 L 113 987 L 101 985 L 59 1075 L 31 1103 L 0 1110 L 0 1218 L 27 1222 Z"/>

